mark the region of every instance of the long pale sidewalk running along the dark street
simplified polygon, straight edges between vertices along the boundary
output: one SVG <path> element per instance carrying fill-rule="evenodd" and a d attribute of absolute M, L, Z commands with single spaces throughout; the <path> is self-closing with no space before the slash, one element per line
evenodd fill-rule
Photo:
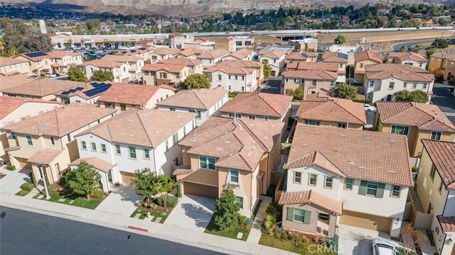
<path fill-rule="evenodd" d="M 1 206 L 134 232 L 149 237 L 166 239 L 170 242 L 197 246 L 203 249 L 210 249 L 212 251 L 223 252 L 226 254 L 294 254 L 290 251 L 283 251 L 269 246 L 262 246 L 257 244 L 257 242 L 244 242 L 237 239 L 196 232 L 174 225 L 166 225 L 166 223 L 159 224 L 146 220 L 134 219 L 132 217 L 126 217 L 124 215 L 116 215 L 111 212 L 78 208 L 76 206 L 14 196 L 3 193 L 3 191 L 1 192 Z M 267 205 L 267 202 L 263 200 L 262 204 Z M 263 215 L 263 213 L 261 214 L 261 212 L 258 212 L 257 215 Z"/>

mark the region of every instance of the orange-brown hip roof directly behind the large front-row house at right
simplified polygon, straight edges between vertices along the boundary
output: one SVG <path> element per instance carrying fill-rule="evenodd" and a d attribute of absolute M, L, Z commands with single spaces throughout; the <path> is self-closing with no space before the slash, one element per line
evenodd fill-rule
<path fill-rule="evenodd" d="M 321 94 L 307 96 L 306 100 L 300 103 L 296 117 L 305 120 L 323 120 L 358 125 L 367 123 L 363 103 L 319 95 Z"/>

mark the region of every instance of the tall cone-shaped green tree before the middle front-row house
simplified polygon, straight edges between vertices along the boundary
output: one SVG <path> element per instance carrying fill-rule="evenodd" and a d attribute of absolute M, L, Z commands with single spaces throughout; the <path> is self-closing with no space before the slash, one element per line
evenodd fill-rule
<path fill-rule="evenodd" d="M 213 216 L 215 217 L 215 226 L 220 229 L 228 229 L 238 224 L 240 204 L 235 203 L 234 191 L 231 188 L 225 188 L 220 198 L 216 200 Z"/>

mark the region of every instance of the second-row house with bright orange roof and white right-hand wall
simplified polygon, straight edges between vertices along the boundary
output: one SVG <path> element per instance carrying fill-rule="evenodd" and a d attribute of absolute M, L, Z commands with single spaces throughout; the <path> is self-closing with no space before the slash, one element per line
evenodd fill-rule
<path fill-rule="evenodd" d="M 176 89 L 167 85 L 112 84 L 98 98 L 100 107 L 127 111 L 129 108 L 156 108 L 156 103 L 172 96 Z"/>

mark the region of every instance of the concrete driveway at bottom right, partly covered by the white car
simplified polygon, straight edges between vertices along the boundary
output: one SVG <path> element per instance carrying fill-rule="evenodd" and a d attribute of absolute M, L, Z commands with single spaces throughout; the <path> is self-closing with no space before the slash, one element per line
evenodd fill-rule
<path fill-rule="evenodd" d="M 338 235 L 338 255 L 371 255 L 374 238 L 390 239 L 387 233 L 348 225 L 338 225 Z"/>

